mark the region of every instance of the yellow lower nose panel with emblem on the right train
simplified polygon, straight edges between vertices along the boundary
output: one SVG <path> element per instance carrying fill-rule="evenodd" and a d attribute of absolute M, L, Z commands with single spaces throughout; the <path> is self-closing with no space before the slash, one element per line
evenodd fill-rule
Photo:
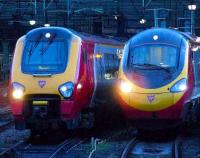
<path fill-rule="evenodd" d="M 173 105 L 171 93 L 131 93 L 130 105 L 142 111 L 159 111 Z"/>

